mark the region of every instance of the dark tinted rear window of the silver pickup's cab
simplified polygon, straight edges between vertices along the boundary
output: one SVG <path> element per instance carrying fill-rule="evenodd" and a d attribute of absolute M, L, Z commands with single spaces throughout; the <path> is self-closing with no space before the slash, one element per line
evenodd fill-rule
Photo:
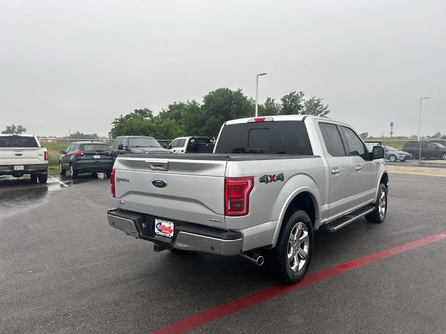
<path fill-rule="evenodd" d="M 305 123 L 287 120 L 226 125 L 215 153 L 312 155 L 313 150 Z"/>

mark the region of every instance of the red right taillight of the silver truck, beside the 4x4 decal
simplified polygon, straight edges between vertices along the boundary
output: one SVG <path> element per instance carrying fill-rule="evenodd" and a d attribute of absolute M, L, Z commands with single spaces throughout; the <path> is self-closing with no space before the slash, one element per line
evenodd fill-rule
<path fill-rule="evenodd" d="M 226 177 L 224 179 L 224 214 L 245 216 L 249 213 L 249 193 L 254 188 L 254 177 Z"/>

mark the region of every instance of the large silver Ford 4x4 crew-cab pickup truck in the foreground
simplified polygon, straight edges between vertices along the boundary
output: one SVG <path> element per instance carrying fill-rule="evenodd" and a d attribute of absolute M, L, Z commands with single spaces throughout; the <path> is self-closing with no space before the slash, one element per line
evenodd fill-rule
<path fill-rule="evenodd" d="M 231 120 L 210 154 L 120 155 L 108 221 L 156 251 L 242 255 L 293 284 L 309 267 L 315 230 L 384 221 L 383 154 L 328 118 Z"/>

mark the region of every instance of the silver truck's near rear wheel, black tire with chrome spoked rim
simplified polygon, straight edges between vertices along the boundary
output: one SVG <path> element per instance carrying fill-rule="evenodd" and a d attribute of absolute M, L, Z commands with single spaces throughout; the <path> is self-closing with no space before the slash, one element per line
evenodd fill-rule
<path fill-rule="evenodd" d="M 307 212 L 295 211 L 284 220 L 277 245 L 268 258 L 279 280 L 291 285 L 305 275 L 312 259 L 313 240 L 312 220 Z"/>

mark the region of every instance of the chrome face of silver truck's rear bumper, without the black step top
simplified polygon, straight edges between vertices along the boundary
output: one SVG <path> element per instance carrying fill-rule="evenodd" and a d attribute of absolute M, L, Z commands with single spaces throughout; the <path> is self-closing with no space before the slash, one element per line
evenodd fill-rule
<path fill-rule="evenodd" d="M 132 218 L 124 218 L 123 216 L 116 216 L 110 213 L 107 214 L 107 218 L 110 226 L 125 232 L 125 234 L 137 239 L 153 241 L 156 244 L 162 244 L 169 248 L 193 250 L 218 255 L 238 255 L 242 253 L 243 249 L 242 237 L 237 239 L 220 239 L 217 237 L 210 237 L 180 230 L 176 235 L 174 235 L 174 238 L 170 239 L 157 234 L 150 236 L 141 234 L 141 232 L 139 232 L 141 229 L 137 227 L 139 223 L 135 222 Z"/>

